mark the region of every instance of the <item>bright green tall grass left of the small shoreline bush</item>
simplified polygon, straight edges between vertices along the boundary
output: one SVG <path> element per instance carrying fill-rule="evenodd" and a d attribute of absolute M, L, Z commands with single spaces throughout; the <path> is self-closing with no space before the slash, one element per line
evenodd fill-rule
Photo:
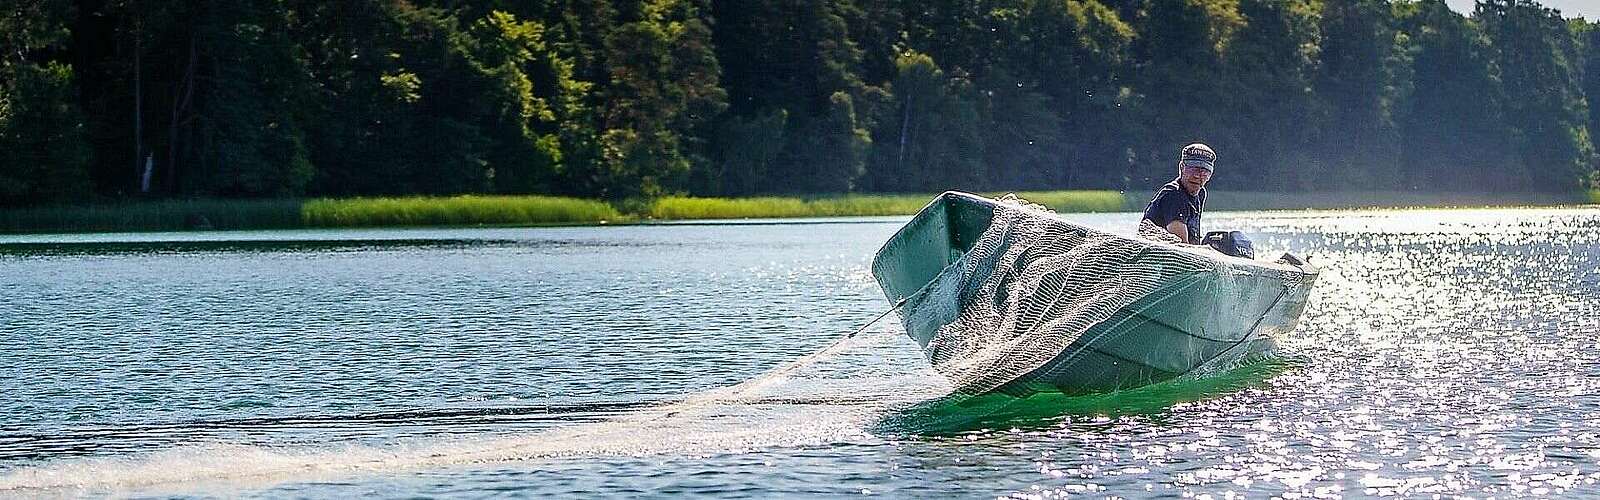
<path fill-rule="evenodd" d="M 317 199 L 301 207 L 310 228 L 578 224 L 618 221 L 597 200 L 550 196 Z"/>

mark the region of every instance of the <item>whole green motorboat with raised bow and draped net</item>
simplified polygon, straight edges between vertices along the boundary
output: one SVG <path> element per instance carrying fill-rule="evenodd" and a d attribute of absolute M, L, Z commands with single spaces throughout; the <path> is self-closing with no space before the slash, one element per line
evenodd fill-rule
<path fill-rule="evenodd" d="M 1013 396 L 1118 391 L 1267 356 L 1317 274 L 1288 253 L 1264 261 L 1118 236 L 957 191 L 872 261 L 934 370 L 958 393 Z"/>

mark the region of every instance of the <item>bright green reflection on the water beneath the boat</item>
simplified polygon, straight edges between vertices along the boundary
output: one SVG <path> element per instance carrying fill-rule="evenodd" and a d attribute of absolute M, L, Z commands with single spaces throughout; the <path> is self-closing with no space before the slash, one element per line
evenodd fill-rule
<path fill-rule="evenodd" d="M 984 429 L 1042 429 L 1078 415 L 1160 415 L 1176 404 L 1205 401 L 1262 386 L 1272 377 L 1301 365 L 1293 357 L 1272 357 L 1198 378 L 1179 378 L 1136 389 L 1069 396 L 1037 393 L 950 394 L 885 415 L 874 426 L 885 434 L 950 436 Z"/>

